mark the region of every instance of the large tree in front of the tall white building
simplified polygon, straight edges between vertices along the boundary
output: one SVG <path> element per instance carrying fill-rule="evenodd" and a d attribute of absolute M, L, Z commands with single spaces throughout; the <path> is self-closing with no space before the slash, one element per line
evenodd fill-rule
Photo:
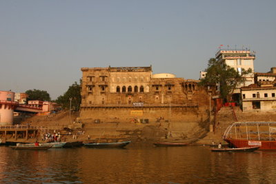
<path fill-rule="evenodd" d="M 201 79 L 202 85 L 210 85 L 219 83 L 220 95 L 224 102 L 228 101 L 228 96 L 233 94 L 235 88 L 238 85 L 246 81 L 246 75 L 252 73 L 252 70 L 244 70 L 237 72 L 235 68 L 231 68 L 225 63 L 220 63 L 215 58 L 211 58 L 208 61 L 208 68 L 205 70 L 206 77 Z"/>

